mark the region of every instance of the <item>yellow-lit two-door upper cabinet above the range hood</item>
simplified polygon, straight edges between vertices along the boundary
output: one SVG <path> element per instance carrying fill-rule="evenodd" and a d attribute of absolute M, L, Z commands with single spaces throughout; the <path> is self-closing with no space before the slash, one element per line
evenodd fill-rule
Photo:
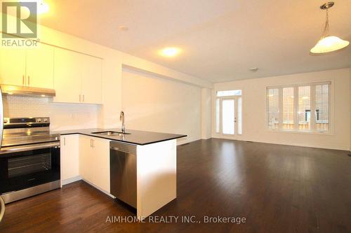
<path fill-rule="evenodd" d="M 53 88 L 53 47 L 0 50 L 0 83 Z"/>

